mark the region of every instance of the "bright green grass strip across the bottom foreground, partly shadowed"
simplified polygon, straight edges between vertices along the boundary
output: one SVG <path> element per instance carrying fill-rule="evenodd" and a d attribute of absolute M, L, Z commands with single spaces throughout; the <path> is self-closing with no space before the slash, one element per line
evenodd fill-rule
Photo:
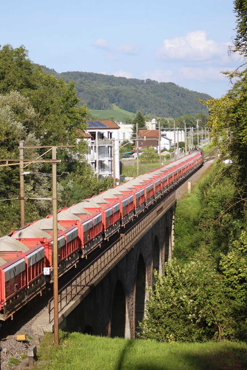
<path fill-rule="evenodd" d="M 159 343 L 71 333 L 52 345 L 47 333 L 38 353 L 49 370 L 223 370 L 246 369 L 245 343 Z M 40 369 L 39 363 L 37 368 Z M 242 366 L 242 367 L 241 367 Z"/>

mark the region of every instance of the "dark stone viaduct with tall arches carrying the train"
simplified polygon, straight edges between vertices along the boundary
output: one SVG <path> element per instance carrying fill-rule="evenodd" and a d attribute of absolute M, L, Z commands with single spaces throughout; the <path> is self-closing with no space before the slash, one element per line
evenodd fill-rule
<path fill-rule="evenodd" d="M 126 242 L 124 255 L 111 263 L 90 292 L 82 294 L 73 310 L 62 314 L 62 329 L 135 338 L 138 321 L 145 314 L 146 288 L 152 286 L 153 269 L 161 273 L 171 259 L 175 206 L 175 192 L 169 202 L 161 200 L 159 207 L 154 205 L 156 213 L 152 221 L 147 220 L 143 233 L 138 231 L 132 242 Z"/>

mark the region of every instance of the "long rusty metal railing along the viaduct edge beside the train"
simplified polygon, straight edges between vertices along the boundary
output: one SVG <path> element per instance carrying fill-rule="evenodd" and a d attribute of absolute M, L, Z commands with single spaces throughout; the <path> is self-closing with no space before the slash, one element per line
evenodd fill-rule
<path fill-rule="evenodd" d="M 115 260 L 121 252 L 133 248 L 137 242 L 137 238 L 142 237 L 141 234 L 146 232 L 146 229 L 151 227 L 151 223 L 163 212 L 166 207 L 172 203 L 175 199 L 175 191 L 169 194 L 165 199 L 161 200 L 157 206 L 145 215 L 140 222 L 134 225 L 122 238 L 119 238 L 117 242 L 111 245 L 108 249 L 102 252 L 96 259 L 94 259 L 86 268 L 81 270 L 76 277 L 74 277 L 66 287 L 63 287 L 58 292 L 59 312 L 68 305 L 78 295 L 83 294 L 87 286 L 99 276 L 113 260 Z M 51 317 L 51 313 L 54 310 L 53 298 L 49 300 L 48 312 L 49 312 L 49 323 L 54 319 Z"/>

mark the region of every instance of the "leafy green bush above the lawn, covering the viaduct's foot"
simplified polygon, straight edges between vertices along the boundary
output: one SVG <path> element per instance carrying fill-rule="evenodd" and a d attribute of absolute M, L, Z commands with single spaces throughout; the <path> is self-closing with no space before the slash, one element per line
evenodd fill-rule
<path fill-rule="evenodd" d="M 232 305 L 223 277 L 208 260 L 183 267 L 166 263 L 166 274 L 154 272 L 154 290 L 146 302 L 141 337 L 163 342 L 204 342 L 234 338 Z"/>

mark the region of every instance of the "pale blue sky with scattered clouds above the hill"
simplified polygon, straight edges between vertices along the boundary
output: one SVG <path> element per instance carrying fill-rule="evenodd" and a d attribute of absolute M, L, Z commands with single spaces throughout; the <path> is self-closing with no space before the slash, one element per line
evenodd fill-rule
<path fill-rule="evenodd" d="M 57 72 L 86 71 L 174 82 L 221 97 L 220 71 L 234 36 L 231 0 L 4 1 L 0 44 L 24 45 L 34 63 Z"/>

